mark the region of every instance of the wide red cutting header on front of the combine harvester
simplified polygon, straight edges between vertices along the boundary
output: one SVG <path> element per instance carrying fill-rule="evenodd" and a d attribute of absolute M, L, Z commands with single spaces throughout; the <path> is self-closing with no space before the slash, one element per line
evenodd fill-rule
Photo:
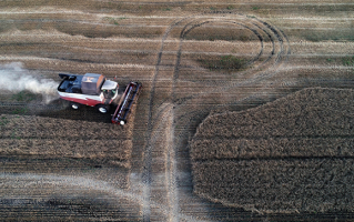
<path fill-rule="evenodd" d="M 129 83 L 112 117 L 112 123 L 121 124 L 121 125 L 125 124 L 129 113 L 132 109 L 132 105 L 138 100 L 138 95 L 141 88 L 142 88 L 142 84 L 139 82 Z"/>

